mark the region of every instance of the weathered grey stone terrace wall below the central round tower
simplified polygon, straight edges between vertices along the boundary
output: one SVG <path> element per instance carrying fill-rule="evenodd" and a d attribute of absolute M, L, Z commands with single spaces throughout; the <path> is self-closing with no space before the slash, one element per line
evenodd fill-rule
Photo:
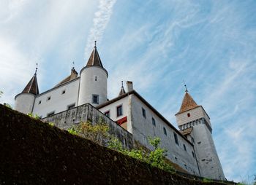
<path fill-rule="evenodd" d="M 123 143 L 124 147 L 127 149 L 132 148 L 132 134 L 124 130 L 123 127 L 116 124 L 112 119 L 105 117 L 102 112 L 95 109 L 94 106 L 91 106 L 89 103 L 67 111 L 62 111 L 51 117 L 45 117 L 42 121 L 53 122 L 56 127 L 67 130 L 69 127 L 72 127 L 72 125 L 78 125 L 80 122 L 90 121 L 92 125 L 95 125 L 100 121 L 99 119 L 102 119 L 110 127 L 110 134 L 115 135 L 121 143 Z"/>

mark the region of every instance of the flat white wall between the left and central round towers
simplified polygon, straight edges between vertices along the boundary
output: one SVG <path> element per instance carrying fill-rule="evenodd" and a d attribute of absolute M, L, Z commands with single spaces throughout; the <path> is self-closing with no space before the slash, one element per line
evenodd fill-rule
<path fill-rule="evenodd" d="M 67 106 L 75 103 L 78 106 L 78 87 L 80 78 L 74 79 L 65 84 L 61 84 L 59 87 L 54 87 L 51 90 L 43 92 L 37 95 L 34 102 L 33 114 L 37 114 L 39 117 L 47 117 L 50 112 L 59 113 L 66 111 Z M 63 94 L 62 92 L 65 91 Z M 50 97 L 50 100 L 48 100 Z M 39 103 L 41 101 L 41 103 Z"/>

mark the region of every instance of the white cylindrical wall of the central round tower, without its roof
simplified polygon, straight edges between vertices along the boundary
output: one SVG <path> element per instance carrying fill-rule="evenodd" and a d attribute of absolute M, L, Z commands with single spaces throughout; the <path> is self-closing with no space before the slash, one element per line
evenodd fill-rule
<path fill-rule="evenodd" d="M 93 106 L 105 103 L 108 99 L 107 78 L 107 72 L 99 66 L 83 68 L 80 72 L 78 106 L 85 103 L 91 103 Z M 92 95 L 99 95 L 99 104 L 92 103 Z"/>

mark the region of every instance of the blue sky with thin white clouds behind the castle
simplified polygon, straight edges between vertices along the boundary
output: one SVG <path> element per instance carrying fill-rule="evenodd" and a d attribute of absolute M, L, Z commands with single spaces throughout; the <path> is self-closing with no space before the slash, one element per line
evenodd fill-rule
<path fill-rule="evenodd" d="M 256 175 L 256 1 L 1 0 L 0 103 L 14 106 L 38 63 L 39 91 L 86 65 L 94 40 L 108 70 L 176 126 L 190 95 L 211 117 L 225 176 Z M 177 126 L 176 126 L 177 127 Z"/>

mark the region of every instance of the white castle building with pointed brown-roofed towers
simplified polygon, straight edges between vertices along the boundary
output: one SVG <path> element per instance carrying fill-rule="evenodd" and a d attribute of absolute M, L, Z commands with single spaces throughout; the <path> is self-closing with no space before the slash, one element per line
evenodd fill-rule
<path fill-rule="evenodd" d="M 50 90 L 39 93 L 37 71 L 24 90 L 15 96 L 15 109 L 24 114 L 50 117 L 69 109 L 91 103 L 127 132 L 135 141 L 150 148 L 148 135 L 161 138 L 167 158 L 188 173 L 225 180 L 222 165 L 211 136 L 210 117 L 185 92 L 181 109 L 176 114 L 177 130 L 148 101 L 133 90 L 132 82 L 123 84 L 116 98 L 108 100 L 108 71 L 103 67 L 97 47 L 78 76 L 75 68 L 66 79 Z"/>

